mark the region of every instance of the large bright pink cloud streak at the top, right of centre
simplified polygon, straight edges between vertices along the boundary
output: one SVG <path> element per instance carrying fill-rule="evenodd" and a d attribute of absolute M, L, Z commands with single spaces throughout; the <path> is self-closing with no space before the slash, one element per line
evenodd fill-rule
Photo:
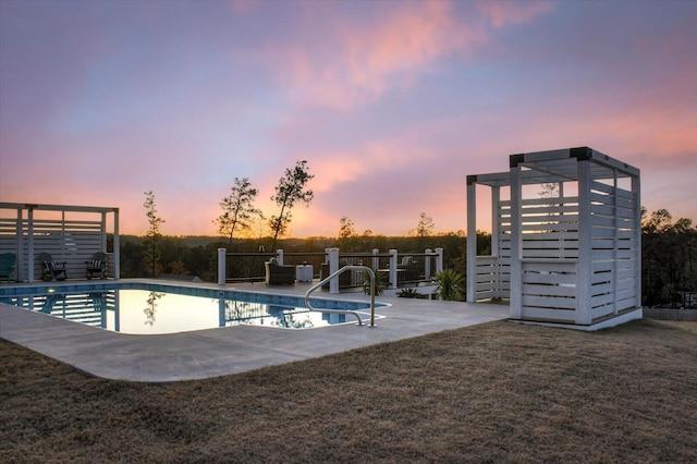
<path fill-rule="evenodd" d="M 266 60 L 301 101 L 348 110 L 375 103 L 389 89 L 411 88 L 449 56 L 467 56 L 488 41 L 486 25 L 529 21 L 548 2 L 481 3 L 467 17 L 452 1 L 390 2 L 379 19 L 337 21 L 321 37 L 290 37 L 269 46 Z M 325 19 L 325 21 L 327 21 Z"/>

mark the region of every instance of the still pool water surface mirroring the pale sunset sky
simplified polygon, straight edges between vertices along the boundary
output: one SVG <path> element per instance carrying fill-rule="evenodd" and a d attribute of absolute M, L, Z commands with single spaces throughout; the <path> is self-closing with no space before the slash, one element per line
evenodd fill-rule
<path fill-rule="evenodd" d="M 175 333 L 240 325 L 307 329 L 346 322 L 345 314 L 147 290 L 4 296 L 0 302 L 121 333 Z"/>

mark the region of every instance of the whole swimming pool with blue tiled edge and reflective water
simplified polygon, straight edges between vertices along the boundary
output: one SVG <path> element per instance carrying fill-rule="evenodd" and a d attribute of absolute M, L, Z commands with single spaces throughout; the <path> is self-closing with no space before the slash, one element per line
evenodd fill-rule
<path fill-rule="evenodd" d="M 132 334 L 241 325 L 311 329 L 356 322 L 351 314 L 310 312 L 304 298 L 295 295 L 150 282 L 0 288 L 0 303 Z M 319 309 L 354 310 L 363 320 L 370 317 L 364 302 L 313 298 L 311 304 Z"/>

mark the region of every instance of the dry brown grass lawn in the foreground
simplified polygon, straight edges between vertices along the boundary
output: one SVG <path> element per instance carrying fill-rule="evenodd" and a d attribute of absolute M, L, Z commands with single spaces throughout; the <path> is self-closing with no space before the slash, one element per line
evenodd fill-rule
<path fill-rule="evenodd" d="M 0 340 L 0 462 L 697 462 L 697 330 L 491 322 L 132 383 Z"/>

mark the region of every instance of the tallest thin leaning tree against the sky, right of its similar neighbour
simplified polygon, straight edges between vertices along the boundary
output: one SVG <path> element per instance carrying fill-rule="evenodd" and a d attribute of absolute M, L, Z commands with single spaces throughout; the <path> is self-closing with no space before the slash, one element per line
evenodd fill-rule
<path fill-rule="evenodd" d="M 314 178 L 308 172 L 307 161 L 297 161 L 294 169 L 286 169 L 285 175 L 279 180 L 279 185 L 276 187 L 276 195 L 271 197 L 271 200 L 281 208 L 279 216 L 271 216 L 269 219 L 269 227 L 273 231 L 273 242 L 271 243 L 271 249 L 276 248 L 276 242 L 279 236 L 283 236 L 288 231 L 288 225 L 291 223 L 291 210 L 299 203 L 305 206 L 309 206 L 310 202 L 315 197 L 315 194 L 310 190 L 305 190 L 307 183 Z"/>

